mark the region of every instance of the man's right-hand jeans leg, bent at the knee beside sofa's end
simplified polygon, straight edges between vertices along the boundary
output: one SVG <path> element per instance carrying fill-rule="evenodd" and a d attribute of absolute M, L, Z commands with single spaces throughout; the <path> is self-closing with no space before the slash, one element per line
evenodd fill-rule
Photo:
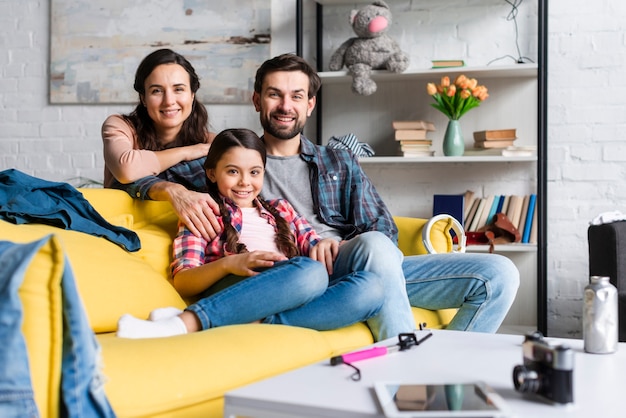
<path fill-rule="evenodd" d="M 447 329 L 496 332 L 513 304 L 519 271 L 497 254 L 430 254 L 402 263 L 411 306 L 458 308 Z"/>

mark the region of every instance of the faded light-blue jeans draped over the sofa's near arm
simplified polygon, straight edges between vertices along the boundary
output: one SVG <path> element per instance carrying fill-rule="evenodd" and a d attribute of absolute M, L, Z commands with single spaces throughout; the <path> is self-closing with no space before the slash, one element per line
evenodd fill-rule
<path fill-rule="evenodd" d="M 24 272 L 50 236 L 29 244 L 0 241 L 0 416 L 38 417 L 18 296 Z M 56 249 L 61 246 L 54 243 Z M 100 375 L 98 343 L 85 315 L 67 257 L 61 277 L 63 352 L 61 417 L 113 417 Z"/>

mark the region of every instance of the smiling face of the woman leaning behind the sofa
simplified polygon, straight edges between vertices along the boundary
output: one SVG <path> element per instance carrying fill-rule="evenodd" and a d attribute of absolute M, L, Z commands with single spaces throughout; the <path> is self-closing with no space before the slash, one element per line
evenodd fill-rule
<path fill-rule="evenodd" d="M 191 114 L 194 93 L 189 84 L 189 74 L 178 64 L 158 65 L 146 78 L 141 101 L 162 144 L 176 138 Z"/>

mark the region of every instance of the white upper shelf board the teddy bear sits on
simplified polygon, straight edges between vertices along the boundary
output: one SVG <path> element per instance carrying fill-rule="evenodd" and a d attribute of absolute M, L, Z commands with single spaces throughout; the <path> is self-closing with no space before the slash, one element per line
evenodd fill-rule
<path fill-rule="evenodd" d="M 425 68 L 409 69 L 403 73 L 392 73 L 385 70 L 372 71 L 372 79 L 375 81 L 384 80 L 427 80 L 439 81 L 443 75 L 456 76 L 458 74 L 469 75 L 474 78 L 520 78 L 537 77 L 537 64 L 515 64 L 483 67 L 450 67 L 450 68 Z M 323 84 L 346 83 L 352 80 L 347 71 L 324 71 L 319 73 Z"/>

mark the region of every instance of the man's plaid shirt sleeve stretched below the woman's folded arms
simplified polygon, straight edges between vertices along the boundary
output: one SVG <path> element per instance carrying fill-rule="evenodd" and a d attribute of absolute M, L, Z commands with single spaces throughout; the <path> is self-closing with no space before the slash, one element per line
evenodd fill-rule
<path fill-rule="evenodd" d="M 165 170 L 158 176 L 143 177 L 133 183 L 122 184 L 115 181 L 114 188 L 124 190 L 135 199 L 150 200 L 148 191 L 155 183 L 170 181 L 185 186 L 196 192 L 208 192 L 204 161 L 206 157 L 197 160 L 183 161 Z"/>

